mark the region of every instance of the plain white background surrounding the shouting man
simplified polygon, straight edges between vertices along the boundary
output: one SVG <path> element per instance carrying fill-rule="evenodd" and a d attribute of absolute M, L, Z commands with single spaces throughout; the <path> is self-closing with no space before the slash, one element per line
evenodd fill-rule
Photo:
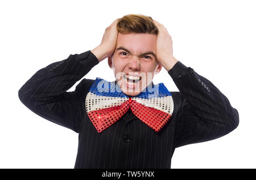
<path fill-rule="evenodd" d="M 174 57 L 216 85 L 240 115 L 230 134 L 176 148 L 171 168 L 256 168 L 255 9 L 244 0 L 1 1 L 0 168 L 75 166 L 78 134 L 31 112 L 18 91 L 40 68 L 98 46 L 105 28 L 127 14 L 163 24 Z M 106 59 L 84 78 L 97 76 L 114 80 Z M 164 68 L 153 82 L 178 91 Z"/>

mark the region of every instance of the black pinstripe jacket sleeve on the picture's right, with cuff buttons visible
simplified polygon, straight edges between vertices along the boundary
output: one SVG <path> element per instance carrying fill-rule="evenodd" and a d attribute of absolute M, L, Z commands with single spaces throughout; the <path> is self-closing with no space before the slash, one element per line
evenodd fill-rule
<path fill-rule="evenodd" d="M 208 79 L 178 61 L 168 74 L 181 93 L 175 147 L 220 138 L 239 124 L 237 109 Z"/>

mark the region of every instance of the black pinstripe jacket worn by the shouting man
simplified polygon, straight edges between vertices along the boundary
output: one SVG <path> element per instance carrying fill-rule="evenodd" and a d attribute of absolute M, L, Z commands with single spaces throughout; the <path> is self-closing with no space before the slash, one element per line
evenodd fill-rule
<path fill-rule="evenodd" d="M 79 133 L 75 168 L 171 168 L 176 147 L 220 138 L 238 126 L 238 112 L 228 98 L 177 62 L 168 74 L 180 92 L 171 92 L 174 112 L 162 130 L 156 133 L 128 111 L 98 133 L 85 110 L 94 80 L 82 79 L 75 91 L 67 92 L 98 63 L 90 50 L 71 54 L 37 71 L 18 92 L 32 112 Z"/>

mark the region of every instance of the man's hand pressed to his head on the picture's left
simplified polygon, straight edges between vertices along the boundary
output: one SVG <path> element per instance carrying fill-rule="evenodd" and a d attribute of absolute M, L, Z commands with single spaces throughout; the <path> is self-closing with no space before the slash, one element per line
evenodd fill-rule
<path fill-rule="evenodd" d="M 105 58 L 110 57 L 114 53 L 115 46 L 117 45 L 117 22 L 119 19 L 120 18 L 114 20 L 114 22 L 105 29 L 101 44 L 91 50 L 91 52 L 97 57 L 99 62 L 101 62 Z"/>

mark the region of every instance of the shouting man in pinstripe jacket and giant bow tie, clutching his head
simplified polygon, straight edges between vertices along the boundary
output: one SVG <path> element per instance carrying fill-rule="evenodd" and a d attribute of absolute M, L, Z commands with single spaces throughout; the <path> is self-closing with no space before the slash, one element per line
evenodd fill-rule
<path fill-rule="evenodd" d="M 121 91 L 105 93 L 100 79 L 82 79 L 67 92 L 105 58 Z M 160 94 L 150 98 L 143 91 L 158 87 L 152 79 L 162 67 L 180 92 L 160 84 Z M 239 123 L 228 98 L 177 61 L 167 29 L 144 15 L 115 20 L 93 50 L 42 68 L 19 98 L 32 112 L 79 133 L 75 168 L 170 168 L 176 147 L 220 138 Z"/>

